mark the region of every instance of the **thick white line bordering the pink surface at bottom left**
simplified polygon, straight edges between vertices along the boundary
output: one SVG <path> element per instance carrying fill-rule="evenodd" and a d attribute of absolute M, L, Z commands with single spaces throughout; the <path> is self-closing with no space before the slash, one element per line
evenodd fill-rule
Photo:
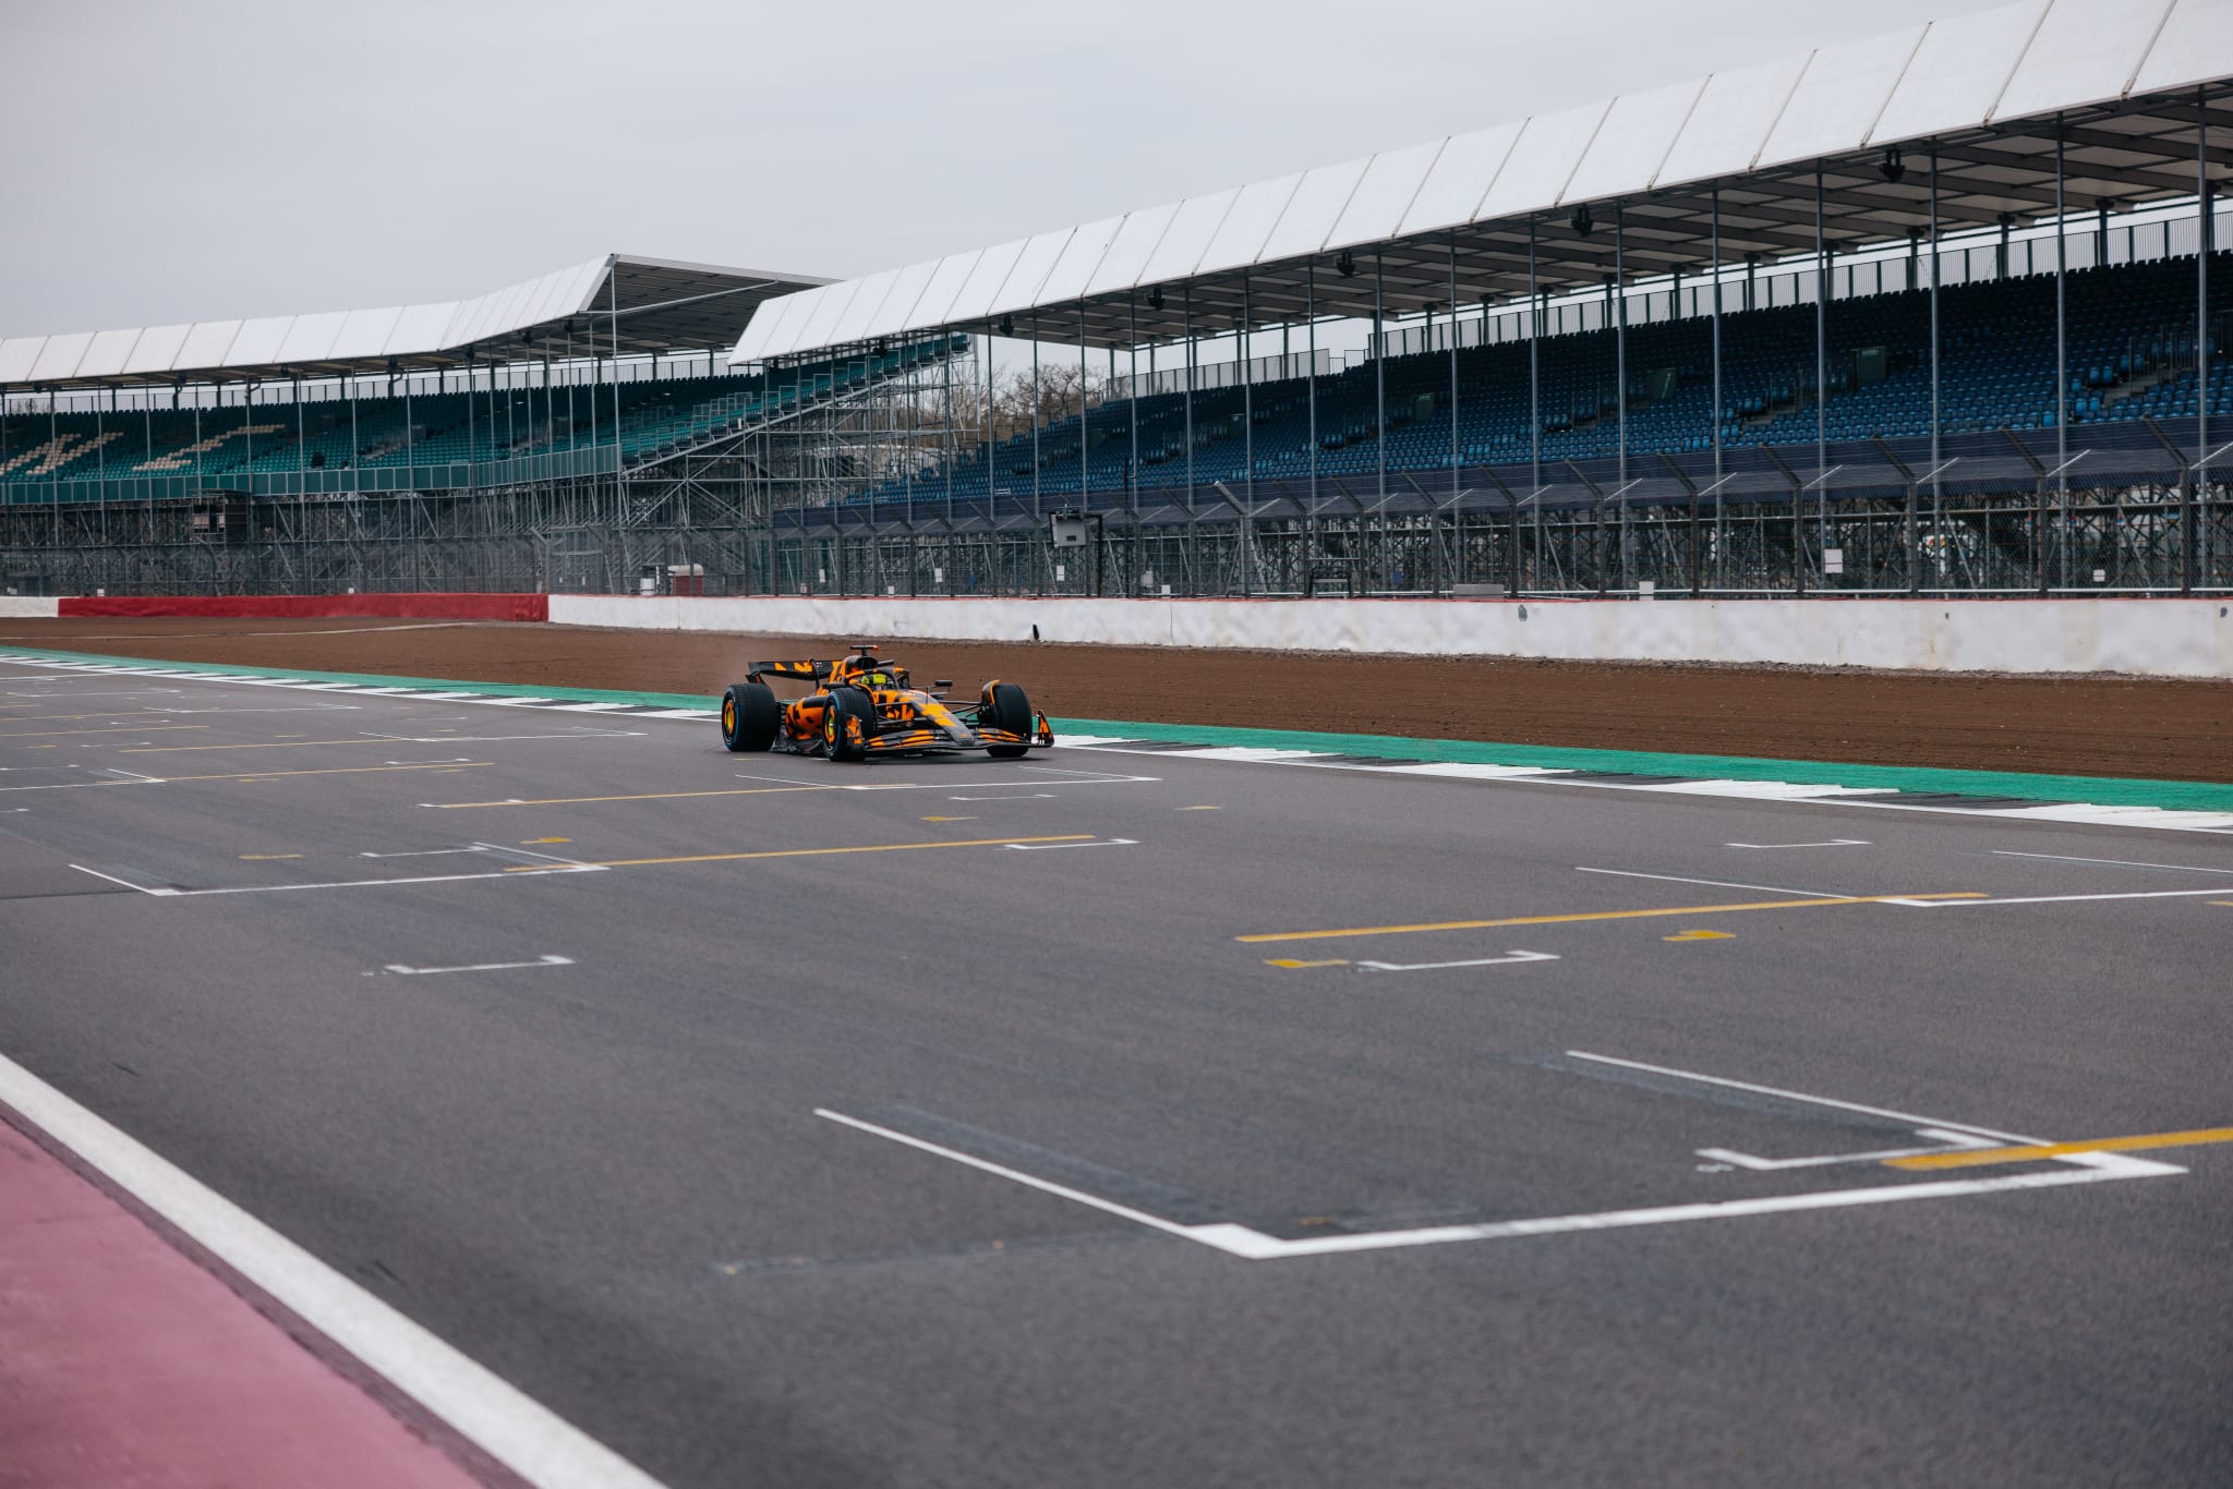
<path fill-rule="evenodd" d="M 0 1103 L 527 1482 L 661 1489 L 549 1406 L 7 1056 L 0 1056 Z"/>

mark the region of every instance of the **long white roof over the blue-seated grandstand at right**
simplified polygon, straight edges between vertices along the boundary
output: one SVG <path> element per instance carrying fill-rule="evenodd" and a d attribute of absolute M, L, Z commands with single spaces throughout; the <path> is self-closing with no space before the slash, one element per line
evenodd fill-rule
<path fill-rule="evenodd" d="M 2233 0 L 2023 0 L 1474 134 L 1056 228 L 866 279 L 770 297 L 730 362 L 933 330 L 1130 346 L 1297 321 L 1389 315 L 1704 270 L 1713 192 L 1722 261 L 1815 246 L 1822 167 L 1831 248 L 1925 230 L 1929 150 L 1938 228 L 2054 212 L 2057 118 L 2066 205 L 2193 196 L 2197 89 L 2233 76 Z M 2233 96 L 2206 105 L 2211 181 L 2233 170 Z M 1898 154 L 1891 154 L 1898 147 Z M 1590 230 L 1574 223 L 1592 208 Z M 1326 254 L 1351 248 L 1349 275 Z M 1183 295 L 1177 286 L 1186 286 Z M 1141 295 L 1168 286 L 1166 295 Z M 1157 304 L 1159 301 L 1159 304 Z"/>

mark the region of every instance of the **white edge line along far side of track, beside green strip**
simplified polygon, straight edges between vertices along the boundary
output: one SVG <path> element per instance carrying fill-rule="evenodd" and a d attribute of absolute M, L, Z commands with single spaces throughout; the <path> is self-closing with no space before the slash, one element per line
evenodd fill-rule
<path fill-rule="evenodd" d="M 721 714 L 712 708 L 672 708 L 665 703 L 610 703 L 585 699 L 540 699 L 473 692 L 469 688 L 409 688 L 395 683 L 335 683 L 308 676 L 252 676 L 241 672 L 208 672 L 190 665 L 141 667 L 127 663 L 94 663 L 58 656 L 0 656 L 11 667 L 42 667 L 87 676 L 190 679 L 199 683 L 232 683 L 241 688 L 293 688 L 324 694 L 362 694 L 377 699 L 411 699 L 424 703 L 478 703 L 487 708 L 538 708 L 552 712 L 603 714 L 614 719 L 677 719 L 710 723 Z M 1311 770 L 1358 770 L 1382 777 L 1425 777 L 1451 781 L 1518 781 L 1547 786 L 1590 786 L 1597 790 L 1643 790 L 1684 797 L 1722 797 L 1735 801 L 1795 801 L 1831 806 L 1867 806 L 1900 813 L 1952 813 L 1958 817 L 2003 817 L 2014 822 L 2070 822 L 2081 826 L 2157 828 L 2170 833 L 2233 835 L 2233 813 L 2175 810 L 2162 806 L 2110 806 L 2092 801 L 2034 801 L 2010 806 L 2001 797 L 1943 797 L 1905 792 L 1891 786 L 1822 786 L 1804 781 L 1728 781 L 1728 779 L 1637 779 L 1561 766 L 1487 766 L 1469 761 L 1376 759 L 1322 750 L 1284 750 L 1268 746 L 1190 746 L 1183 741 L 1125 739 L 1121 734 L 1067 734 L 1058 741 L 1070 750 L 1110 755 L 1172 755 L 1179 759 L 1228 761 L 1246 766 L 1304 766 Z"/>

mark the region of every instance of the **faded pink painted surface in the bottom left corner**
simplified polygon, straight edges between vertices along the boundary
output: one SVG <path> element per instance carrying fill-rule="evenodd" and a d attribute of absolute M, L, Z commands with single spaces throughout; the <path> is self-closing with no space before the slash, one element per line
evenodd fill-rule
<path fill-rule="evenodd" d="M 476 1482 L 0 1121 L 0 1489 Z"/>

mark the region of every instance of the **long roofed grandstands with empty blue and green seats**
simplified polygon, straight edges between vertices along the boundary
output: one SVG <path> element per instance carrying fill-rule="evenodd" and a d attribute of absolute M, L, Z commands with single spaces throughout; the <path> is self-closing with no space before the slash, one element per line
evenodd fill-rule
<path fill-rule="evenodd" d="M 0 578 L 2226 589 L 2229 76 L 2025 0 L 840 284 L 7 339 Z"/>

